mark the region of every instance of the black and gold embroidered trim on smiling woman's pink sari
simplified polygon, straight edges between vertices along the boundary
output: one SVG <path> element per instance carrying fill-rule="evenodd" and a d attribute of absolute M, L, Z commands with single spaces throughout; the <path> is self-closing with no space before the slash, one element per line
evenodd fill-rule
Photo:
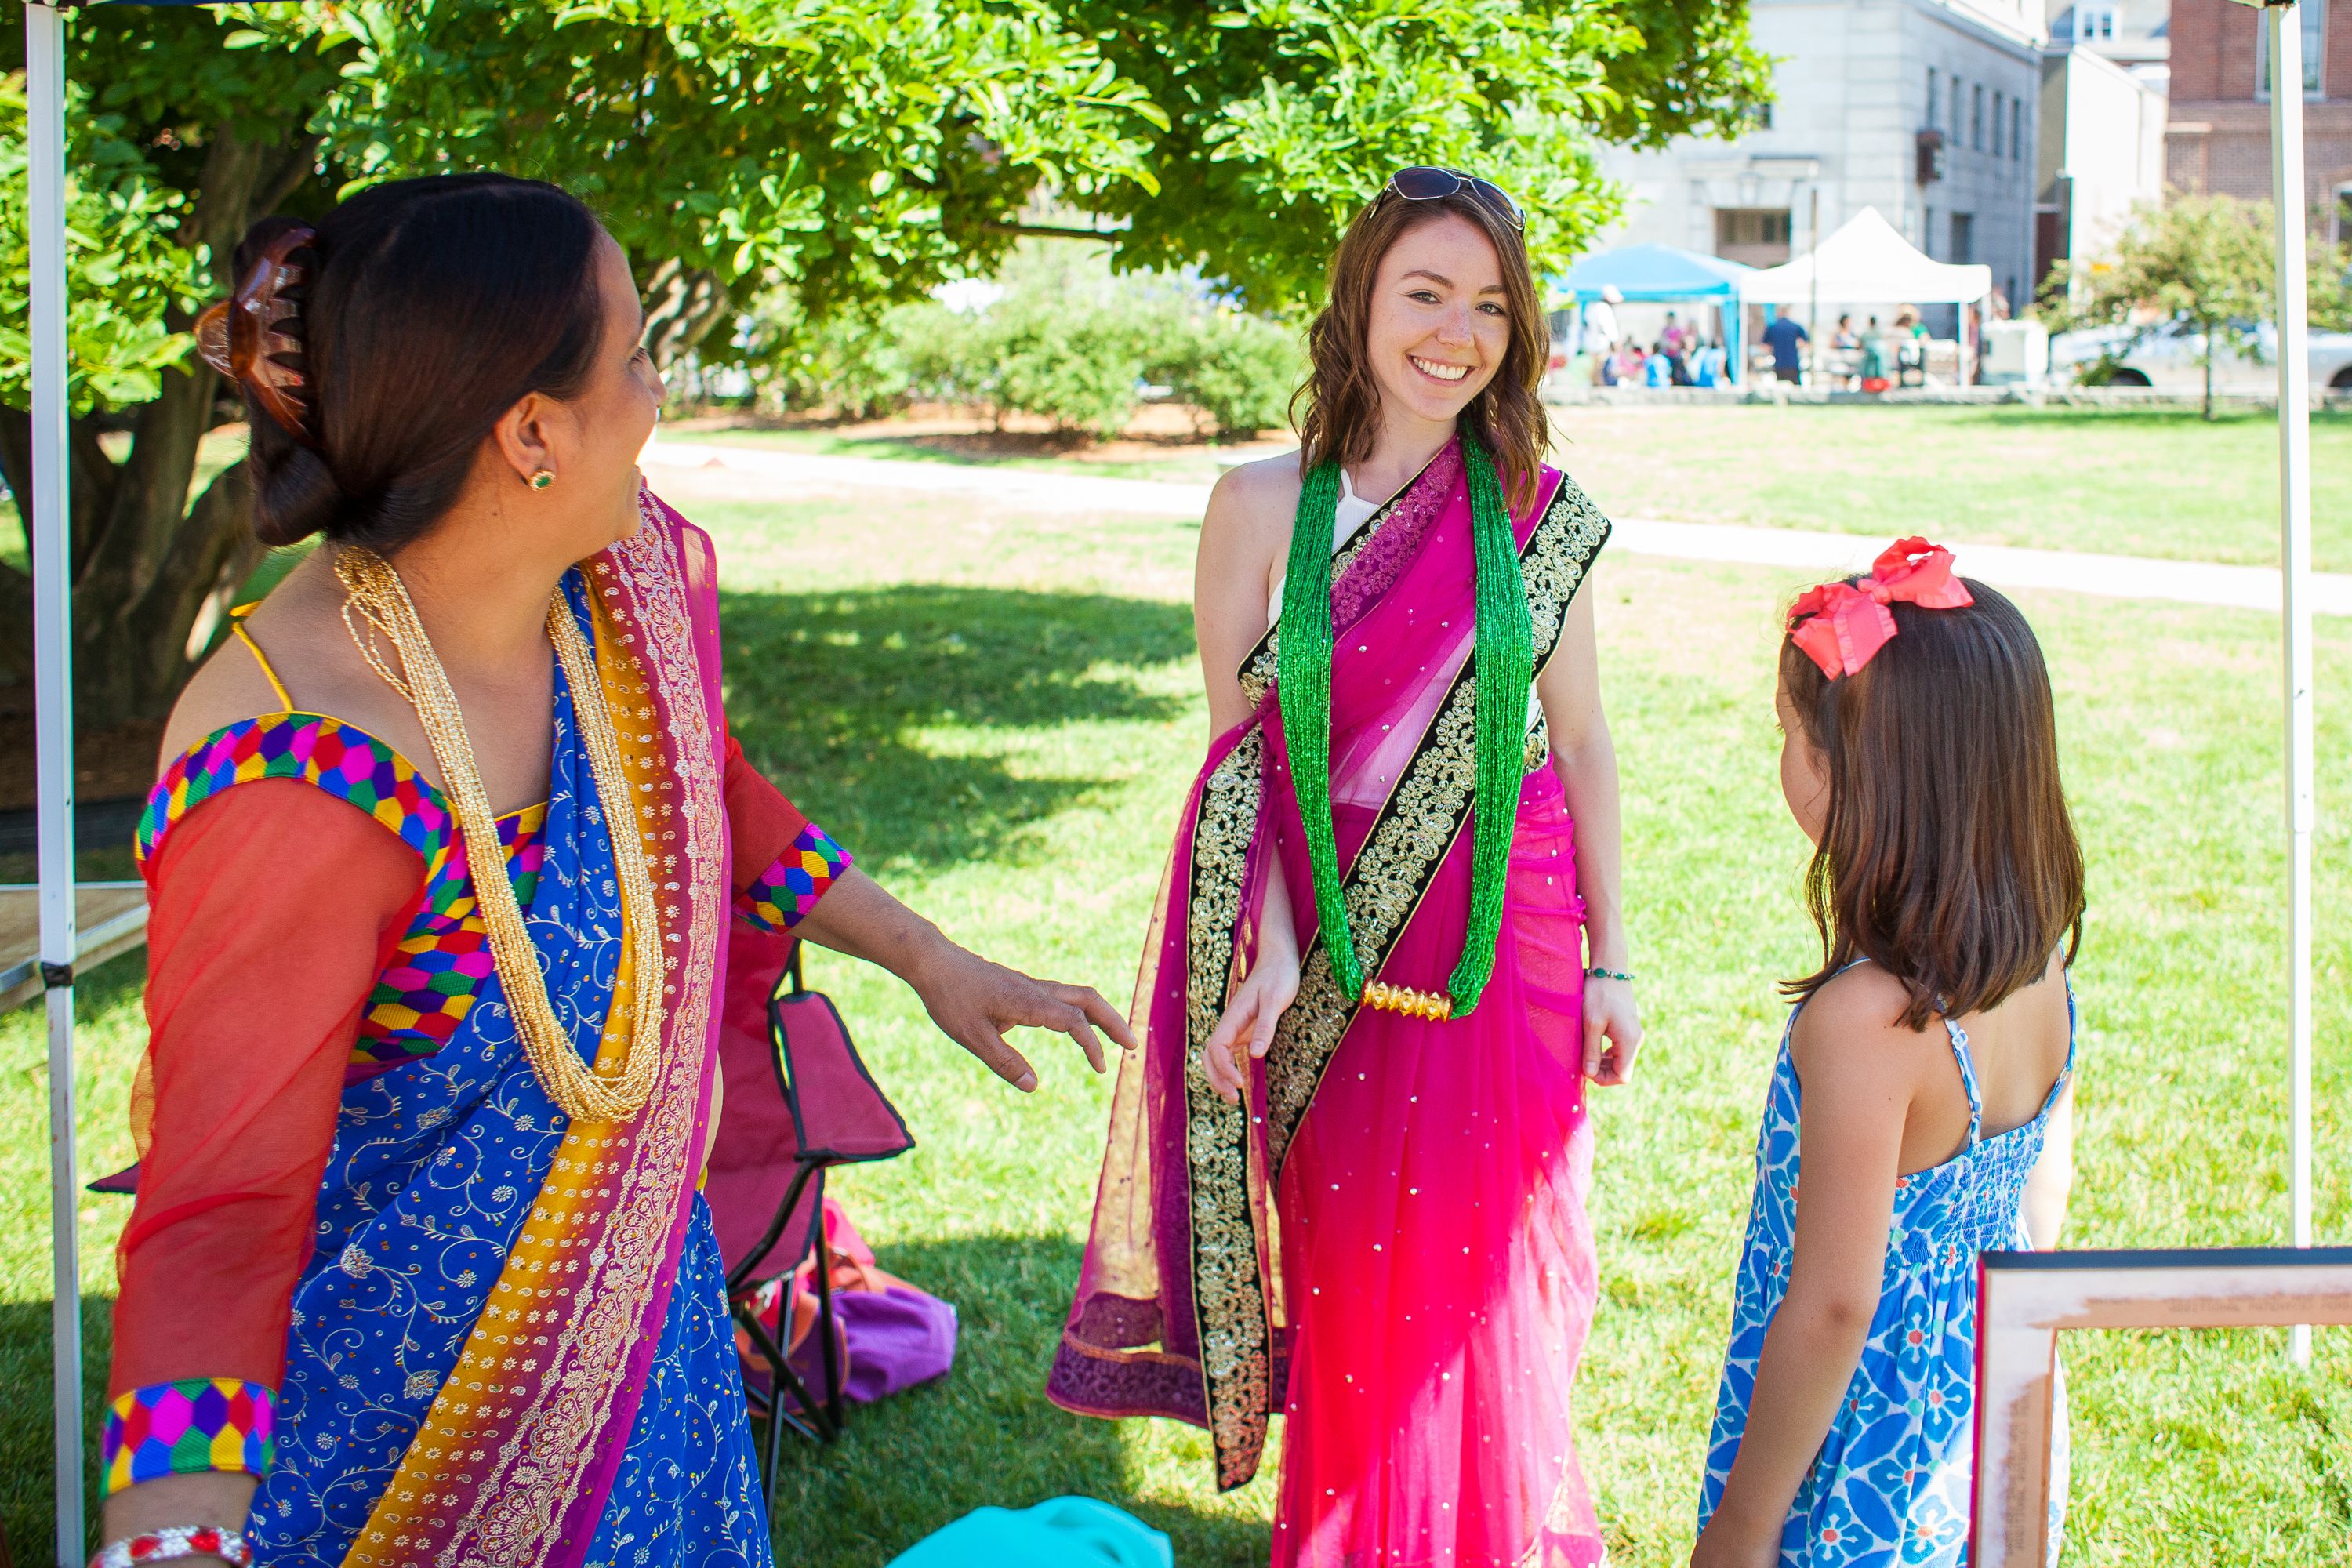
<path fill-rule="evenodd" d="M 1343 559 L 1371 541 L 1395 501 L 1369 522 Z M 1609 538 L 1609 520 L 1573 480 L 1562 475 L 1543 517 L 1519 550 L 1526 602 L 1536 632 L 1536 672 L 1559 646 L 1569 604 L 1583 585 L 1592 557 Z M 1334 576 L 1338 564 L 1334 567 Z M 1242 665 L 1242 689 L 1258 703 L 1275 677 L 1275 632 L 1268 632 Z M 1456 675 L 1397 776 L 1374 820 L 1364 849 L 1348 867 L 1343 896 L 1348 926 L 1364 973 L 1376 976 L 1437 865 L 1470 818 L 1477 785 L 1477 677 L 1470 661 Z M 1543 750 L 1538 750 L 1543 745 Z M 1548 736 L 1529 736 L 1529 769 L 1543 764 Z M 1192 1197 L 1192 1312 L 1200 1331 L 1202 1385 L 1209 1436 L 1216 1448 L 1221 1490 L 1247 1483 L 1258 1472 L 1272 1413 L 1272 1328 L 1265 1279 L 1249 1199 L 1249 1107 L 1225 1105 L 1202 1070 L 1202 1048 L 1223 1016 L 1232 987 L 1242 919 L 1242 879 L 1249 842 L 1263 802 L 1263 731 L 1225 757 L 1202 790 L 1192 825 L 1192 898 L 1185 933 L 1185 1164 Z M 1315 1088 L 1352 1023 L 1357 1004 L 1345 999 L 1331 973 L 1331 957 L 1317 936 L 1301 961 L 1298 997 L 1282 1016 L 1265 1053 L 1265 1124 L 1270 1147 L 1268 1192 L 1275 1190 L 1291 1138 L 1305 1119 Z"/>

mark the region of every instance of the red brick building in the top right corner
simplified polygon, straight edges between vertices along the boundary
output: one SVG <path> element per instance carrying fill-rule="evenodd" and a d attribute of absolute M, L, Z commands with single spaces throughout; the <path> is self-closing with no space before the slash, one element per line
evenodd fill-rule
<path fill-rule="evenodd" d="M 2352 0 L 2305 0 L 2303 200 L 2312 228 L 2352 240 Z M 2164 179 L 2176 190 L 2270 200 L 2270 40 L 2234 0 L 2171 0 L 2171 118 Z"/>

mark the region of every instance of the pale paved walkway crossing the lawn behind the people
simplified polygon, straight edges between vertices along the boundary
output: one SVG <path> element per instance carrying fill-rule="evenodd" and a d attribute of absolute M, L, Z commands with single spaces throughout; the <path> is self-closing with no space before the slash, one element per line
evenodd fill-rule
<path fill-rule="evenodd" d="M 684 487 L 724 487 L 743 494 L 809 496 L 884 489 L 960 496 L 1009 510 L 1063 515 L 1200 517 L 1209 505 L 1207 484 L 1103 480 L 983 463 L 849 458 L 771 447 L 656 442 L 647 449 L 644 463 L 656 489 L 661 489 L 663 475 L 675 475 Z M 1618 517 L 1613 543 L 1635 555 L 1788 567 L 1790 571 L 1818 574 L 1863 571 L 1870 567 L 1870 557 L 1886 545 L 1879 536 L 1750 529 L 1722 522 L 1656 522 L 1646 517 Z M 2060 588 L 2117 599 L 2279 609 L 2279 574 L 2272 567 L 2220 567 L 2140 555 L 2089 555 L 2079 550 L 2023 550 L 2016 545 L 1966 543 L 1952 543 L 1952 552 L 1959 557 L 1962 571 L 1999 588 Z M 2312 609 L 2321 616 L 2352 616 L 2352 574 L 2312 574 Z"/>

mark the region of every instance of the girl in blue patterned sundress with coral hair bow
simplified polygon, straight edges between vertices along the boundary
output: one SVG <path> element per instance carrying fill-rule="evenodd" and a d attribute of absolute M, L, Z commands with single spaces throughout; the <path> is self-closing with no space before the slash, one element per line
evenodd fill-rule
<path fill-rule="evenodd" d="M 2053 1246 L 2072 1173 L 2084 893 L 2049 672 L 2009 599 L 1905 538 L 1797 599 L 1778 710 L 1823 964 L 1788 985 L 1691 1563 L 1950 1566 L 1976 1255 Z M 2063 1434 L 2060 1401 L 2053 1561 Z"/>

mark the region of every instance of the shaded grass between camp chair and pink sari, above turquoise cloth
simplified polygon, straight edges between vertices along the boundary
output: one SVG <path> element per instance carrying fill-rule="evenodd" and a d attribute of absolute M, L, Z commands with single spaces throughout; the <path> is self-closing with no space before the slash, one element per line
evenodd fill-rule
<path fill-rule="evenodd" d="M 1134 1497 L 1127 1422 L 1047 1403 L 1044 1375 L 1077 1281 L 1065 1237 L 964 1237 L 884 1246 L 882 1267 L 955 1302 L 962 1338 L 943 1380 L 858 1406 L 833 1448 L 793 1443 L 776 1481 L 776 1561 L 877 1568 L 976 1507 L 1080 1493 L 1176 1542 L 1183 1568 L 1256 1568 L 1268 1528 Z M 1202 1486 L 1207 1488 L 1207 1458 Z M 1270 1488 L 1268 1472 L 1258 1486 Z"/>

